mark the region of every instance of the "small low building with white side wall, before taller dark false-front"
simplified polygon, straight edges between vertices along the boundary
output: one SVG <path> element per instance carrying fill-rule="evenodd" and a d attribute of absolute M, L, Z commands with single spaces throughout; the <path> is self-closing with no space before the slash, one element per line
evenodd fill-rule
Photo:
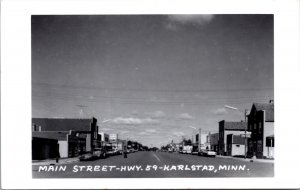
<path fill-rule="evenodd" d="M 245 138 L 240 135 L 227 135 L 227 155 L 245 156 Z"/>

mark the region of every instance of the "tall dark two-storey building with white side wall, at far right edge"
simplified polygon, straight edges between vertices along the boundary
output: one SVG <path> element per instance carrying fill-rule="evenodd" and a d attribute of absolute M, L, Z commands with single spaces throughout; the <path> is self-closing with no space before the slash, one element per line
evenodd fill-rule
<path fill-rule="evenodd" d="M 274 158 L 274 101 L 253 103 L 248 115 L 248 152 L 257 158 Z"/>

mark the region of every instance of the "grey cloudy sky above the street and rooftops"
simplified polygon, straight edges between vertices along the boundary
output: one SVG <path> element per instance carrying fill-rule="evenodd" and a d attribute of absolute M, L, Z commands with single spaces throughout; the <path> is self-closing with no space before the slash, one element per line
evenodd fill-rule
<path fill-rule="evenodd" d="M 273 99 L 273 56 L 272 15 L 32 16 L 32 117 L 178 142 Z"/>

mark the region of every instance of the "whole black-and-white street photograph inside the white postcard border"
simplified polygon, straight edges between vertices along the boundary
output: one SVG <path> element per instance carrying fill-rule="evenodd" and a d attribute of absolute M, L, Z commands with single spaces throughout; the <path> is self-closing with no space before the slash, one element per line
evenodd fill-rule
<path fill-rule="evenodd" d="M 274 176 L 272 14 L 32 15 L 31 32 L 33 178 Z"/>

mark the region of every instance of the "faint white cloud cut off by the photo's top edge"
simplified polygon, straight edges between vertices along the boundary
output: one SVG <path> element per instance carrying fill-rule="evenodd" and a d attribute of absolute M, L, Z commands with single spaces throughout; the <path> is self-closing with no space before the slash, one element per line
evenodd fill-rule
<path fill-rule="evenodd" d="M 169 15 L 168 19 L 171 22 L 176 22 L 180 24 L 198 24 L 203 25 L 209 23 L 214 18 L 211 14 L 198 14 L 198 15 Z M 167 27 L 170 27 L 167 25 Z M 174 27 L 174 26 L 172 26 Z M 172 28 L 170 28 L 172 29 Z"/>

